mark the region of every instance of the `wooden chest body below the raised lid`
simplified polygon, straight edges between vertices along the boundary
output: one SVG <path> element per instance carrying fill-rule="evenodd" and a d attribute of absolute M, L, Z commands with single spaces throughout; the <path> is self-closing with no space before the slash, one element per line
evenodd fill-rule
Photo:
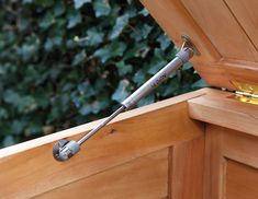
<path fill-rule="evenodd" d="M 257 113 L 232 93 L 203 89 L 124 113 L 65 163 L 53 159 L 53 144 L 100 121 L 10 147 L 0 150 L 0 194 L 224 199 L 243 190 L 258 197 Z"/>

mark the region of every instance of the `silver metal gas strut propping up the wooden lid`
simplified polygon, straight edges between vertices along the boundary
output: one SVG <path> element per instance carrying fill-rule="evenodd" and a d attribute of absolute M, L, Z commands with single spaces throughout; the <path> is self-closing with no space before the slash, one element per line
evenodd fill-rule
<path fill-rule="evenodd" d="M 57 161 L 67 161 L 80 151 L 80 145 L 85 143 L 90 137 L 98 132 L 102 127 L 115 118 L 119 114 L 132 108 L 138 101 L 157 87 L 160 83 L 168 79 L 168 77 L 178 70 L 183 63 L 188 62 L 193 55 L 200 55 L 193 43 L 188 36 L 182 35 L 182 47 L 176 55 L 176 58 L 165 66 L 158 73 L 145 82 L 132 95 L 121 103 L 121 107 L 114 112 L 110 117 L 102 121 L 99 126 L 93 128 L 90 132 L 83 136 L 80 140 L 59 140 L 53 148 L 53 155 Z"/>

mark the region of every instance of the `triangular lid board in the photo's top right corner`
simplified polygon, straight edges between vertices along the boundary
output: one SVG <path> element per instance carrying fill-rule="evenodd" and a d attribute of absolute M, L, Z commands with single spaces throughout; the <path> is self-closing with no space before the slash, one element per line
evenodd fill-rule
<path fill-rule="evenodd" d="M 234 12 L 243 28 L 248 34 L 256 50 L 258 48 L 258 1 L 257 0 L 225 0 Z"/>

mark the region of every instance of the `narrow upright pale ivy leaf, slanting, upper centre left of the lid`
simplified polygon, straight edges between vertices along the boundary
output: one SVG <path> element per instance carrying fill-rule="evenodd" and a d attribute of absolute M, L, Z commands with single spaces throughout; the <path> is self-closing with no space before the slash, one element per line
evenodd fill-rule
<path fill-rule="evenodd" d="M 109 38 L 114 39 L 119 37 L 127 24 L 128 24 L 128 14 L 119 16 L 115 21 L 115 25 L 113 26 Z"/>

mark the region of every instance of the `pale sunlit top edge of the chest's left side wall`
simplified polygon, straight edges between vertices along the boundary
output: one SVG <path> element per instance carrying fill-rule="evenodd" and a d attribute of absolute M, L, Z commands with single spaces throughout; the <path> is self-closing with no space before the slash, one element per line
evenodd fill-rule
<path fill-rule="evenodd" d="M 201 89 L 201 90 L 195 91 L 195 92 L 190 92 L 190 93 L 187 93 L 187 94 L 183 94 L 183 95 L 180 95 L 180 96 L 176 96 L 176 97 L 172 97 L 172 98 L 169 98 L 169 99 L 165 99 L 165 101 L 161 101 L 161 102 L 157 102 L 157 103 L 154 103 L 154 104 L 141 107 L 141 108 L 135 108 L 135 109 L 132 109 L 130 112 L 121 114 L 114 120 L 112 120 L 110 124 L 120 122 L 122 120 L 126 120 L 126 119 L 132 118 L 132 117 L 137 117 L 137 116 L 148 114 L 148 113 L 152 113 L 152 112 L 155 112 L 155 110 L 158 110 L 158 109 L 162 109 L 162 108 L 166 108 L 168 106 L 176 105 L 176 104 L 179 104 L 181 102 L 184 102 L 189 98 L 194 98 L 194 97 L 204 95 L 207 92 L 210 92 L 210 89 Z M 25 142 L 22 142 L 22 143 L 12 145 L 12 147 L 1 149 L 0 150 L 0 159 L 12 155 L 12 154 L 15 154 L 15 153 L 19 153 L 19 152 L 23 152 L 23 151 L 26 151 L 26 150 L 30 150 L 30 149 L 33 149 L 33 148 L 36 148 L 36 147 L 40 147 L 40 145 L 52 143 L 54 141 L 57 141 L 57 140 L 60 140 L 60 139 L 64 139 L 64 138 L 71 138 L 71 137 L 79 138 L 79 136 L 82 136 L 83 133 L 87 133 L 92 128 L 94 128 L 98 124 L 100 124 L 102 120 L 104 120 L 104 118 L 100 119 L 100 120 L 92 121 L 92 122 L 88 122 L 88 124 L 85 124 L 85 125 L 80 125 L 80 126 L 77 126 L 77 127 L 74 127 L 74 128 L 70 128 L 70 129 L 66 129 L 66 130 L 63 130 L 63 131 L 59 131 L 59 132 L 55 132 L 53 134 L 44 136 L 44 137 L 34 139 L 34 140 L 25 141 Z"/>

